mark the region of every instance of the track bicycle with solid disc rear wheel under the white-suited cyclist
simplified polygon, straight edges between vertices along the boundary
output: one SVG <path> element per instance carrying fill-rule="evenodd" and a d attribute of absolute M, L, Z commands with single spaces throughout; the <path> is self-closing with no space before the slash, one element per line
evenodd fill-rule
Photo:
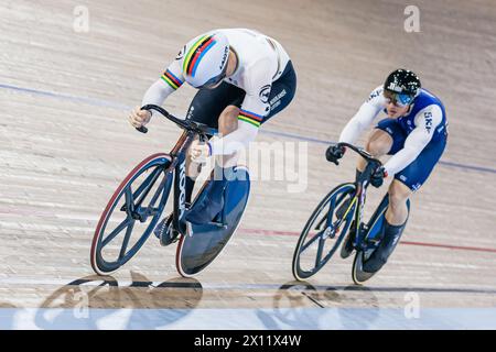
<path fill-rule="evenodd" d="M 186 152 L 196 136 L 206 141 L 217 131 L 205 124 L 177 119 L 158 106 L 149 105 L 141 109 L 160 112 L 184 132 L 169 154 L 150 155 L 116 189 L 95 230 L 91 267 L 99 275 L 109 275 L 133 257 L 161 220 L 162 213 L 165 213 L 173 189 L 173 212 L 166 231 L 174 231 L 174 238 L 177 238 L 177 272 L 191 277 L 211 264 L 236 232 L 248 202 L 249 173 L 246 167 L 237 168 L 236 178 L 229 180 L 224 190 L 224 208 L 212 222 L 186 223 Z M 147 132 L 145 128 L 138 130 Z M 194 201 L 201 197 L 206 183 Z"/>

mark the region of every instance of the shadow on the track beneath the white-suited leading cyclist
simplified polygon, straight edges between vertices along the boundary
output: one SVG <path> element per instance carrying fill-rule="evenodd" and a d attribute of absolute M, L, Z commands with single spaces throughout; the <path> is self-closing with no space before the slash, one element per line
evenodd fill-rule
<path fill-rule="evenodd" d="M 131 272 L 131 277 L 127 286 L 111 276 L 71 282 L 43 301 L 34 322 L 42 329 L 163 328 L 191 314 L 203 296 L 194 278 L 154 285 L 141 274 Z"/>

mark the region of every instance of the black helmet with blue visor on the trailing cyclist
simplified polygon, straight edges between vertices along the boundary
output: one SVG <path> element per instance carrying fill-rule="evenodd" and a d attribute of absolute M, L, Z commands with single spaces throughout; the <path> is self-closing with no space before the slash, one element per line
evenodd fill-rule
<path fill-rule="evenodd" d="M 409 105 L 420 94 L 420 79 L 408 69 L 396 69 L 384 82 L 384 89 L 396 95 L 398 102 Z"/>

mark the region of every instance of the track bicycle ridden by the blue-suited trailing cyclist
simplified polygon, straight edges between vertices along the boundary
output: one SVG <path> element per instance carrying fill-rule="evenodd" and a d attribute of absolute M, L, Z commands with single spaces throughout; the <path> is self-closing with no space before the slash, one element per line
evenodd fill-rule
<path fill-rule="evenodd" d="M 376 274 L 364 272 L 363 263 L 370 257 L 381 241 L 389 198 L 388 195 L 382 198 L 365 223 L 363 210 L 367 187 L 370 176 L 381 163 L 363 148 L 348 143 L 338 145 L 359 154 L 367 161 L 367 166 L 355 183 L 342 184 L 331 190 L 313 211 L 298 241 L 292 272 L 298 280 L 315 275 L 331 260 L 342 242 L 342 253 L 345 253 L 344 246 L 351 241 L 352 250 L 356 251 L 352 277 L 355 284 L 360 285 Z M 344 239 L 346 240 L 343 241 Z"/>

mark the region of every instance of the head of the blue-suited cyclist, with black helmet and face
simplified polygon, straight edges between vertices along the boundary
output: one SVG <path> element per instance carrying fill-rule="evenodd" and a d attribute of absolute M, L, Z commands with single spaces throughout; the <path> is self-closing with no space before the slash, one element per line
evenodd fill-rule
<path fill-rule="evenodd" d="M 384 82 L 387 112 L 391 118 L 405 114 L 420 94 L 420 79 L 408 69 L 396 69 Z"/>

